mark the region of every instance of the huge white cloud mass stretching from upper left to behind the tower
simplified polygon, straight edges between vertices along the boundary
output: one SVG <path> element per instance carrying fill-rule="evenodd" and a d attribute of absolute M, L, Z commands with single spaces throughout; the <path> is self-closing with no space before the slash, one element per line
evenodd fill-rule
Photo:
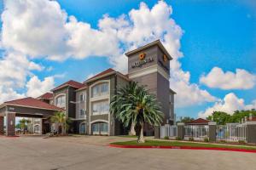
<path fill-rule="evenodd" d="M 15 1 L 4 4 L 2 44 L 30 58 L 63 60 L 69 57 L 106 56 L 119 71 L 127 71 L 125 52 L 160 39 L 172 55 L 171 88 L 177 92 L 177 106 L 199 105 L 215 98 L 195 83 L 178 61 L 183 57 L 180 40 L 183 30 L 172 19 L 172 7 L 159 1 L 146 3 L 128 15 L 112 18 L 105 14 L 98 28 L 68 16 L 55 1 Z M 24 82 L 24 81 L 23 81 Z M 186 93 L 184 93 L 186 92 Z M 29 93 L 30 94 L 30 93 Z"/>

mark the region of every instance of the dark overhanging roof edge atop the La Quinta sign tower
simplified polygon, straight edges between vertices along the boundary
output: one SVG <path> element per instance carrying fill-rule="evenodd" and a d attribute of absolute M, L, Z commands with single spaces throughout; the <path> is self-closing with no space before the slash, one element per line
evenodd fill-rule
<path fill-rule="evenodd" d="M 154 42 L 150 42 L 150 43 L 148 43 L 148 44 L 146 44 L 146 45 L 143 45 L 143 46 L 140 47 L 140 48 L 133 49 L 133 50 L 131 50 L 131 51 L 125 53 L 125 55 L 126 55 L 127 57 L 129 57 L 131 54 L 135 54 L 135 53 L 137 53 L 137 52 L 142 51 L 142 50 L 145 49 L 145 48 L 149 48 L 149 47 L 154 46 L 154 45 L 158 45 L 158 47 L 164 52 L 164 54 L 167 55 L 168 59 L 172 60 L 171 54 L 169 54 L 169 53 L 167 52 L 167 50 L 166 50 L 166 48 L 164 47 L 164 45 L 162 44 L 162 42 L 160 42 L 160 39 L 155 40 Z"/>

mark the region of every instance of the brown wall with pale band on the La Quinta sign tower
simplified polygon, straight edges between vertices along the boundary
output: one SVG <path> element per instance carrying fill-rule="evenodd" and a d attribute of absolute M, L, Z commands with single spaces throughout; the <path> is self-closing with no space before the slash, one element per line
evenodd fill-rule
<path fill-rule="evenodd" d="M 132 68 L 131 65 L 140 60 L 139 54 L 142 53 L 146 54 L 145 59 L 152 58 L 154 61 Z M 149 92 L 156 95 L 165 114 L 165 124 L 170 118 L 170 61 L 164 61 L 164 53 L 155 45 L 128 56 L 128 68 L 132 81 L 146 85 Z"/>

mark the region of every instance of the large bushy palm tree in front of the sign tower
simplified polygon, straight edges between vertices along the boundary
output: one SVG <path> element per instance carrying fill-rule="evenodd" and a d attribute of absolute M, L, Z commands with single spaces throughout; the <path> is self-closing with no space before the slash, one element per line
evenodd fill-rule
<path fill-rule="evenodd" d="M 137 82 L 130 82 L 125 88 L 117 91 L 111 101 L 110 112 L 123 122 L 125 127 L 131 124 L 140 127 L 138 143 L 145 142 L 143 125 L 160 125 L 164 116 L 155 96 L 149 94 L 143 86 L 138 86 Z"/>

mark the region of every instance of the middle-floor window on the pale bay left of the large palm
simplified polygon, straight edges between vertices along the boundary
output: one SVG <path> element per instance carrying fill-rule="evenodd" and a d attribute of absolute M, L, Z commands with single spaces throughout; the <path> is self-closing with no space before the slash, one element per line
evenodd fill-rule
<path fill-rule="evenodd" d="M 108 100 L 97 101 L 92 103 L 92 115 L 103 115 L 109 112 Z"/>

